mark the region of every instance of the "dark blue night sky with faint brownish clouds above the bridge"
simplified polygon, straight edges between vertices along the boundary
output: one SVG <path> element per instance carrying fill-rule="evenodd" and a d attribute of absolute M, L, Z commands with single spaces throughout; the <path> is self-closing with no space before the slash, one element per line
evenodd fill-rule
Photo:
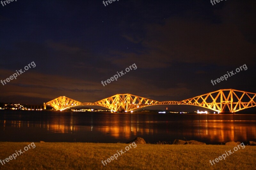
<path fill-rule="evenodd" d="M 36 64 L 0 84 L 0 102 L 94 102 L 117 93 L 180 101 L 219 89 L 256 92 L 255 9 L 254 0 L 0 4 L 0 79 Z M 134 63 L 136 70 L 101 84 Z M 244 64 L 247 70 L 212 85 Z"/>

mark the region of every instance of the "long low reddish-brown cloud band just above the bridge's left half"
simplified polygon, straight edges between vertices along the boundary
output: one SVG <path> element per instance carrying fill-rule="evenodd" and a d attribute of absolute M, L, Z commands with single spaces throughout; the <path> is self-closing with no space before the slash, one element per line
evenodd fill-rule
<path fill-rule="evenodd" d="M 0 70 L 0 77 L 2 79 L 4 79 L 6 75 L 12 74 L 13 71 Z M 128 74 L 126 74 L 125 78 L 121 77 L 118 81 L 113 81 L 104 87 L 100 81 L 93 82 L 79 78 L 42 74 L 28 70 L 18 76 L 16 80 L 11 80 L 6 85 L 1 84 L 0 93 L 0 101 L 14 99 L 20 102 L 22 98 L 30 98 L 47 102 L 59 96 L 67 96 L 81 102 L 95 102 L 118 93 L 131 93 L 154 100 L 160 100 L 161 96 L 165 96 L 171 100 L 174 98 L 178 99 L 178 97 L 182 95 L 188 96 L 190 90 L 186 85 L 183 85 L 183 87 L 177 85 L 172 88 L 159 88 L 156 85 L 148 84 Z"/>

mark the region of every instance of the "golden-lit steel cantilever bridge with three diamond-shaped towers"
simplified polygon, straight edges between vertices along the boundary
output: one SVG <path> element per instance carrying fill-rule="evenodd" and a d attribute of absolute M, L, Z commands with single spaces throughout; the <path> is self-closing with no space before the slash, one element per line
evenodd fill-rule
<path fill-rule="evenodd" d="M 60 96 L 44 103 L 44 109 L 46 109 L 46 105 L 60 111 L 76 106 L 102 106 L 114 112 L 131 112 L 142 107 L 154 105 L 193 105 L 220 113 L 235 113 L 256 106 L 255 96 L 256 93 L 234 89 L 221 89 L 182 101 L 156 101 L 132 94 L 116 94 L 94 103 L 82 103 L 65 96 Z"/>

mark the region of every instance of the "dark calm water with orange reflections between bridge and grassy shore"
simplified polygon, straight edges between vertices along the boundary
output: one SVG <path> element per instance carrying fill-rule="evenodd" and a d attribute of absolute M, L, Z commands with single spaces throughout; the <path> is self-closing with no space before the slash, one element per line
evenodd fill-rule
<path fill-rule="evenodd" d="M 149 143 L 256 141 L 256 115 L 0 112 L 0 141 L 123 143 L 135 137 Z"/>

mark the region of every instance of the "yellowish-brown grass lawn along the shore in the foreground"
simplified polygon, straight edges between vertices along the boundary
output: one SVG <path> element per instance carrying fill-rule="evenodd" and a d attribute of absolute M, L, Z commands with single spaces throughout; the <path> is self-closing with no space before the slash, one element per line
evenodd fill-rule
<path fill-rule="evenodd" d="M 30 143 L 0 142 L 0 159 L 24 151 Z M 101 160 L 113 156 L 128 144 L 103 143 L 35 143 L 16 160 L 12 159 L 0 169 L 255 169 L 256 146 L 238 149 L 226 160 L 211 165 L 209 160 L 218 158 L 225 151 L 233 151 L 225 145 L 168 145 L 137 144 L 136 148 L 103 166 Z"/>

